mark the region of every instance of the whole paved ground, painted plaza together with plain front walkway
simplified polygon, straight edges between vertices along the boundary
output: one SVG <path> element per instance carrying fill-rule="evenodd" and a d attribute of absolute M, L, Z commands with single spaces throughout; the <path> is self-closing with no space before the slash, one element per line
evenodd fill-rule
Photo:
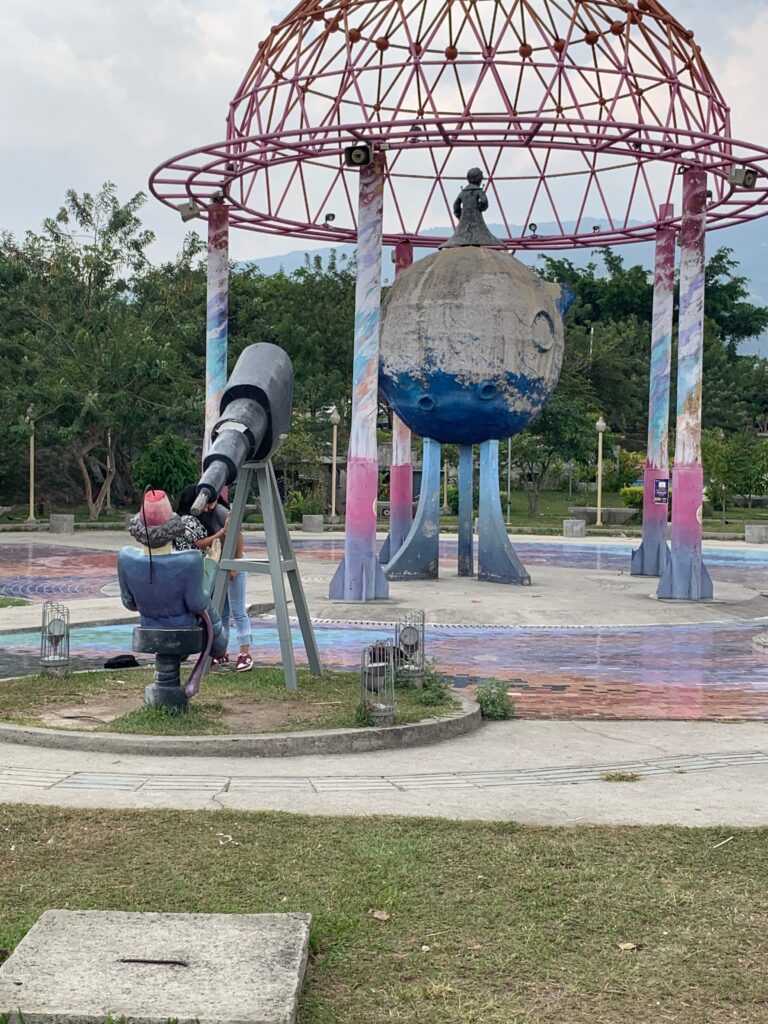
<path fill-rule="evenodd" d="M 134 616 L 117 596 L 125 535 L 0 539 L 0 676 L 35 668 L 43 600 L 72 611 L 80 667 L 130 649 Z M 0 743 L 0 795 L 87 807 L 270 808 L 319 814 L 438 814 L 549 824 L 768 823 L 768 552 L 710 545 L 715 602 L 662 603 L 628 575 L 624 541 L 519 539 L 530 588 L 456 577 L 456 541 L 439 584 L 397 584 L 387 603 L 327 597 L 341 537 L 296 541 L 324 662 L 354 669 L 360 647 L 399 611 L 424 607 L 428 655 L 460 688 L 506 680 L 519 718 L 437 746 L 336 757 L 189 758 Z M 260 535 L 249 551 L 263 550 Z M 249 600 L 268 604 L 268 582 Z M 274 622 L 253 618 L 256 658 L 279 664 Z M 300 660 L 303 651 L 296 636 Z M 642 721 L 645 719 L 645 721 Z M 679 720 L 679 721 L 675 721 Z M 634 781 L 612 782 L 618 772 Z"/>

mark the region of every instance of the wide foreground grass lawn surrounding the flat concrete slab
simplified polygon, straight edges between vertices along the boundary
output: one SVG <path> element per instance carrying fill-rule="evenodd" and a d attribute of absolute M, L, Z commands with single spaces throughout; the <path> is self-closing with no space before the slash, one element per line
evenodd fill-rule
<path fill-rule="evenodd" d="M 6 949 L 49 907 L 310 912 L 299 1024 L 768 1019 L 764 829 L 0 806 L 0 863 Z"/>

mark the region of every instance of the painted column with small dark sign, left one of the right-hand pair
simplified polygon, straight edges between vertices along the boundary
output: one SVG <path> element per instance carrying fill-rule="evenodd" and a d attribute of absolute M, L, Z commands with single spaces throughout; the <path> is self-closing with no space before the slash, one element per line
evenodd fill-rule
<path fill-rule="evenodd" d="M 674 206 L 663 206 L 663 219 L 675 216 Z M 643 540 L 632 553 L 632 575 L 660 577 L 667 567 L 669 519 L 669 426 L 672 324 L 675 313 L 674 227 L 656 232 L 653 274 L 653 327 L 650 342 L 648 396 L 648 458 L 643 473 Z"/>

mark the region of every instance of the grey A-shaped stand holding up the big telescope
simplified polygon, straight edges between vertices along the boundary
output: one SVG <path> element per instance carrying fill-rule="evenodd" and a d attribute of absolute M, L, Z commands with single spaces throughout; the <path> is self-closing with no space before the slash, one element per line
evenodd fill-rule
<path fill-rule="evenodd" d="M 264 517 L 266 560 L 234 557 L 238 537 L 243 528 L 246 505 L 251 487 L 253 486 L 254 477 L 256 478 L 259 499 L 261 501 L 261 512 Z M 286 514 L 283 510 L 283 502 L 278 489 L 278 481 L 274 476 L 271 459 L 268 459 L 266 462 L 245 463 L 238 474 L 229 526 L 224 538 L 221 560 L 219 561 L 219 571 L 213 591 L 213 604 L 214 607 L 218 608 L 219 613 L 221 613 L 224 607 L 226 584 L 229 572 L 232 569 L 238 572 L 259 572 L 262 575 L 268 574 L 270 577 L 286 687 L 289 690 L 297 690 L 296 658 L 293 649 L 291 623 L 288 617 L 288 599 L 286 597 L 285 577 L 288 577 L 294 607 L 299 620 L 301 637 L 304 641 L 304 650 L 309 662 L 309 671 L 313 676 L 322 676 L 323 666 L 321 665 L 317 652 L 317 642 L 314 637 L 314 630 L 312 629 L 312 621 L 309 617 L 309 608 L 304 596 L 299 568 L 296 564 L 296 556 L 291 543 L 291 535 L 288 531 Z"/>

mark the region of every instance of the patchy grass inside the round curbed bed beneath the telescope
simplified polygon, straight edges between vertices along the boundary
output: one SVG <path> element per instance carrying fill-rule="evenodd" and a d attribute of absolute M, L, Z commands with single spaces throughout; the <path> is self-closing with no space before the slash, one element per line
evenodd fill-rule
<path fill-rule="evenodd" d="M 323 677 L 315 678 L 306 671 L 299 672 L 299 689 L 289 693 L 280 669 L 213 672 L 203 680 L 201 693 L 193 700 L 186 715 L 168 715 L 141 708 L 143 688 L 152 682 L 153 675 L 151 669 L 134 669 L 0 680 L 0 721 L 46 725 L 49 723 L 41 715 L 48 712 L 56 713 L 65 708 L 87 711 L 89 705 L 103 707 L 112 701 L 120 715 L 98 726 L 100 731 L 195 735 L 341 729 L 355 725 L 359 677 L 354 673 L 326 672 Z M 434 693 L 432 687 L 425 687 L 424 691 L 398 688 L 395 724 L 418 722 L 455 709 L 455 702 L 443 689 L 439 688 L 433 697 Z M 430 699 L 438 702 L 430 705 Z M 257 718 L 259 712 L 261 718 Z M 81 725 L 75 720 L 72 727 Z"/>

